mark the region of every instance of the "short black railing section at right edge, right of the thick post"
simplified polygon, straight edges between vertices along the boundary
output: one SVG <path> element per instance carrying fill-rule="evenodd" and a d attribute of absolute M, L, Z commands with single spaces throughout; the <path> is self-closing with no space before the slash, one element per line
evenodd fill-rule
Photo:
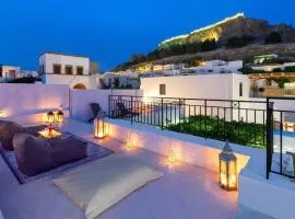
<path fill-rule="evenodd" d="M 295 97 L 268 97 L 267 177 L 295 177 Z"/>

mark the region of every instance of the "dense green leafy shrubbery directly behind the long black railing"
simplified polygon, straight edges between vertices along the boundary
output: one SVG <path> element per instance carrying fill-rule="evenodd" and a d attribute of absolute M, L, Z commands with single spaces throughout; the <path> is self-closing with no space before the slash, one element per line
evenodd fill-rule
<path fill-rule="evenodd" d="M 179 124 L 169 125 L 167 129 L 216 140 L 228 140 L 253 148 L 266 148 L 266 128 L 260 124 L 226 122 L 219 117 L 197 115 Z"/>

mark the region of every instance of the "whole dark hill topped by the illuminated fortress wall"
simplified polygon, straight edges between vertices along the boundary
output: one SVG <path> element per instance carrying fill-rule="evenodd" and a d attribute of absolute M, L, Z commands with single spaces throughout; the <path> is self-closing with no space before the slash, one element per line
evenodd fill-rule
<path fill-rule="evenodd" d="M 144 62 L 169 64 L 193 58 L 236 60 L 250 56 L 278 54 L 295 56 L 295 28 L 286 24 L 246 18 L 238 13 L 189 34 L 158 44 L 148 55 L 133 55 L 116 70 L 126 70 Z"/>

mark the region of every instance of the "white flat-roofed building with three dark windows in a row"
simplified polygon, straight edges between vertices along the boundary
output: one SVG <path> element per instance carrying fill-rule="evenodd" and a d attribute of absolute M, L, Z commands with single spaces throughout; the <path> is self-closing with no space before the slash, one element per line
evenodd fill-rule
<path fill-rule="evenodd" d="M 88 57 L 44 53 L 39 68 L 46 84 L 69 84 L 73 89 L 96 89 L 99 84 L 97 64 Z"/>

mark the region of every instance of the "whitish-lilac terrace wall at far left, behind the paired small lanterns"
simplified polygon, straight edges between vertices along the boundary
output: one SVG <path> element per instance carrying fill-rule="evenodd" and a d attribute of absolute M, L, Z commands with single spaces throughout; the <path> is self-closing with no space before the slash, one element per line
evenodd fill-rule
<path fill-rule="evenodd" d="M 0 84 L 0 117 L 44 122 L 48 111 L 69 110 L 69 87 Z"/>

